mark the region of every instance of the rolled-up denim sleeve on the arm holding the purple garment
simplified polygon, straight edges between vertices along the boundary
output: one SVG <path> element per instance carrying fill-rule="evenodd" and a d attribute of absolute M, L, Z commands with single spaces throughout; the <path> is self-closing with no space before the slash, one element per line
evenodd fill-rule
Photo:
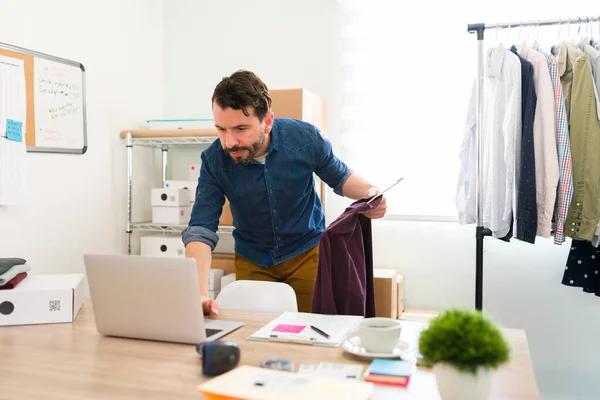
<path fill-rule="evenodd" d="M 333 154 L 331 142 L 324 138 L 317 128 L 316 138 L 317 167 L 315 173 L 333 189 L 334 193 L 343 196 L 342 188 L 353 171 Z"/>

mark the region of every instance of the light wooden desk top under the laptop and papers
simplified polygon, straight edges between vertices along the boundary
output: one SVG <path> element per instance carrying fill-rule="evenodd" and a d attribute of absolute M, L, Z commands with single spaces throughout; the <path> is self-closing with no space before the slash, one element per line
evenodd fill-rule
<path fill-rule="evenodd" d="M 221 311 L 219 318 L 246 322 L 223 339 L 239 344 L 243 364 L 287 358 L 296 370 L 321 361 L 368 365 L 341 348 L 246 340 L 275 316 Z M 513 358 L 496 374 L 491 399 L 539 399 L 525 333 L 506 334 Z M 73 323 L 0 327 L 0 399 L 200 399 L 204 379 L 194 346 L 103 337 L 90 303 Z M 435 377 L 419 369 L 407 389 L 377 386 L 373 399 L 387 398 L 437 400 Z"/>

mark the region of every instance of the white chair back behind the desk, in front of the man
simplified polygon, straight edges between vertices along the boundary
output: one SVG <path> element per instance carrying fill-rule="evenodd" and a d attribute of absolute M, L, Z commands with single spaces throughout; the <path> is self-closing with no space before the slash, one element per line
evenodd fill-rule
<path fill-rule="evenodd" d="M 280 282 L 234 281 L 221 289 L 215 300 L 223 310 L 298 311 L 294 289 Z"/>

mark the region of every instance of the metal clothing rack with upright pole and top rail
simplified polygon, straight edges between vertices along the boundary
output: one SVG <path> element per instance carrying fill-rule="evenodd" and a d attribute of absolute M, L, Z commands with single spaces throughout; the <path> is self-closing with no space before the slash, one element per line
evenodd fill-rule
<path fill-rule="evenodd" d="M 559 18 L 551 20 L 528 20 L 528 21 L 517 21 L 517 22 L 496 22 L 496 23 L 477 23 L 468 24 L 467 29 L 469 33 L 477 34 L 477 81 L 476 81 L 476 109 L 477 109 L 477 132 L 476 132 L 476 147 L 477 157 L 475 160 L 475 216 L 477 226 L 475 228 L 475 308 L 481 311 L 483 308 L 483 240 L 486 236 L 491 236 L 492 232 L 483 227 L 480 202 L 481 202 L 481 131 L 482 131 L 482 110 L 483 110 L 483 40 L 484 32 L 486 29 L 508 29 L 508 28 L 522 28 L 522 27 L 539 27 L 539 26 L 553 26 L 553 25 L 571 25 L 571 24 L 587 24 L 590 22 L 600 22 L 600 16 L 587 16 L 587 17 L 572 17 L 572 18 Z"/>

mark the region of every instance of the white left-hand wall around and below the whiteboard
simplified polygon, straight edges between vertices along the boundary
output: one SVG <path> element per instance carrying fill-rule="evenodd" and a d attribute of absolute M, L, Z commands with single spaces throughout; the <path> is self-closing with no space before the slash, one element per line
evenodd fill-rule
<path fill-rule="evenodd" d="M 28 154 L 30 201 L 0 207 L 0 257 L 23 257 L 32 273 L 70 273 L 83 272 L 86 252 L 126 250 L 118 135 L 162 115 L 163 21 L 162 0 L 0 2 L 1 42 L 84 64 L 88 117 L 84 155 Z M 138 189 L 149 184 L 141 169 Z"/>

